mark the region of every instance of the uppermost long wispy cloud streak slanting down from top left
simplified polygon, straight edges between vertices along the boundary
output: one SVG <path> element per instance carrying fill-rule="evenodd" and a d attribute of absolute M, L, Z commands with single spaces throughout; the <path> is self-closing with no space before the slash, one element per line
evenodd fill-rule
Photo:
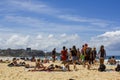
<path fill-rule="evenodd" d="M 91 25 L 97 26 L 97 27 L 106 27 L 111 23 L 110 21 L 95 19 L 95 18 L 86 18 L 86 17 L 80 17 L 78 15 L 70 15 L 70 14 L 63 14 L 63 11 L 60 11 L 56 8 L 53 8 L 49 5 L 46 5 L 45 3 L 38 1 L 8 1 L 9 5 L 11 4 L 11 7 L 14 7 L 15 11 L 19 10 L 25 10 L 26 12 L 31 11 L 32 14 L 35 13 L 43 13 L 44 15 L 49 14 L 51 17 L 55 17 L 56 19 L 61 20 L 67 20 L 72 22 L 79 22 L 79 23 L 89 23 Z M 21 20 L 21 19 L 20 19 Z M 19 22 L 21 22 L 19 20 Z"/>

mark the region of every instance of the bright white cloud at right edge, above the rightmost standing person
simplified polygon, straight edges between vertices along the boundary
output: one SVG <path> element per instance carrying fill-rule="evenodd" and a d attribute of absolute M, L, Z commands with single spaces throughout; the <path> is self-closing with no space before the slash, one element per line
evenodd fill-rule
<path fill-rule="evenodd" d="M 110 51 L 120 51 L 120 30 L 105 32 L 104 34 L 98 35 L 92 38 L 91 45 L 105 45 Z"/>

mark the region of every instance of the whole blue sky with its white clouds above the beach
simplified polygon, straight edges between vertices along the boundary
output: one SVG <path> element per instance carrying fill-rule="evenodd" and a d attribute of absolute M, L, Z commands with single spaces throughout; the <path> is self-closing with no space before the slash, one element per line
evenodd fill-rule
<path fill-rule="evenodd" d="M 57 51 L 88 43 L 120 55 L 120 0 L 1 0 L 0 48 Z"/>

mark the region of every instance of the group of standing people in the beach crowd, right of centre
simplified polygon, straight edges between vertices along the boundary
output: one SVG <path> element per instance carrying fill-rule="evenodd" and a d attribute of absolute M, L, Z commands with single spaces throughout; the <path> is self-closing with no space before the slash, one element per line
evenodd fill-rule
<path fill-rule="evenodd" d="M 53 62 L 55 61 L 55 53 L 56 48 L 54 48 L 52 51 Z M 81 49 L 79 48 L 77 49 L 76 46 L 74 45 L 72 48 L 69 48 L 69 51 L 65 46 L 63 46 L 63 49 L 61 50 L 61 61 L 66 62 L 71 60 L 75 70 L 77 70 L 76 67 L 77 62 L 83 64 L 84 67 L 87 65 L 87 68 L 90 69 L 90 64 L 94 64 L 96 56 L 98 55 L 100 64 L 104 64 L 106 51 L 103 45 L 101 45 L 98 53 L 95 47 L 91 48 L 88 46 L 88 44 L 82 45 Z"/>

